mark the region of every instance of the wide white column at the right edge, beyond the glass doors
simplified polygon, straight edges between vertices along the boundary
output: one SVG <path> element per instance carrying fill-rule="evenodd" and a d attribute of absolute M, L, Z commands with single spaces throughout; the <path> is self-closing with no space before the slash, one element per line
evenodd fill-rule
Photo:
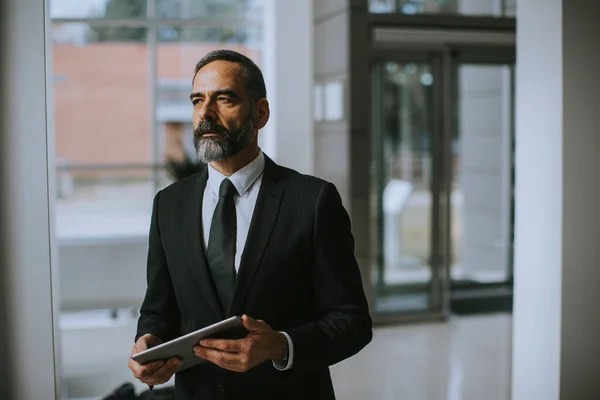
<path fill-rule="evenodd" d="M 517 12 L 512 398 L 598 398 L 600 3 Z"/>

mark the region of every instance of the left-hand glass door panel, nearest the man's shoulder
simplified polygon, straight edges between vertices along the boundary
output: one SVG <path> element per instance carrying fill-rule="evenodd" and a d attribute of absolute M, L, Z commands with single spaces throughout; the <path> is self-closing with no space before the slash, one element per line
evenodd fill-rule
<path fill-rule="evenodd" d="M 439 54 L 373 64 L 374 312 L 441 316 Z"/>

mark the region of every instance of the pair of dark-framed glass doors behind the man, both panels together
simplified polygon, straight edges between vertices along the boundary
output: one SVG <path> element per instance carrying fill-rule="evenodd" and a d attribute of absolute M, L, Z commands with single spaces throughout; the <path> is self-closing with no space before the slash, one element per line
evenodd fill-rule
<path fill-rule="evenodd" d="M 372 63 L 376 320 L 510 309 L 514 47 Z"/>

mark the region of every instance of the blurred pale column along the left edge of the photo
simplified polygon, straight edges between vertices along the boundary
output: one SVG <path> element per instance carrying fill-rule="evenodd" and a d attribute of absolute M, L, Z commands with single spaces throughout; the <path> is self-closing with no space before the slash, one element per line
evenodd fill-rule
<path fill-rule="evenodd" d="M 0 3 L 2 399 L 57 398 L 44 7 L 44 0 Z"/>

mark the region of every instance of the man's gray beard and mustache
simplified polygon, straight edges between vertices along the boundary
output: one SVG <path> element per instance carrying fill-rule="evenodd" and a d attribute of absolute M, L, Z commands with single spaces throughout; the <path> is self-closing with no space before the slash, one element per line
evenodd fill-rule
<path fill-rule="evenodd" d="M 254 139 L 254 122 L 248 119 L 237 131 L 219 133 L 217 136 L 203 137 L 194 130 L 194 146 L 198 159 L 203 163 L 223 161 L 235 156 Z"/>

